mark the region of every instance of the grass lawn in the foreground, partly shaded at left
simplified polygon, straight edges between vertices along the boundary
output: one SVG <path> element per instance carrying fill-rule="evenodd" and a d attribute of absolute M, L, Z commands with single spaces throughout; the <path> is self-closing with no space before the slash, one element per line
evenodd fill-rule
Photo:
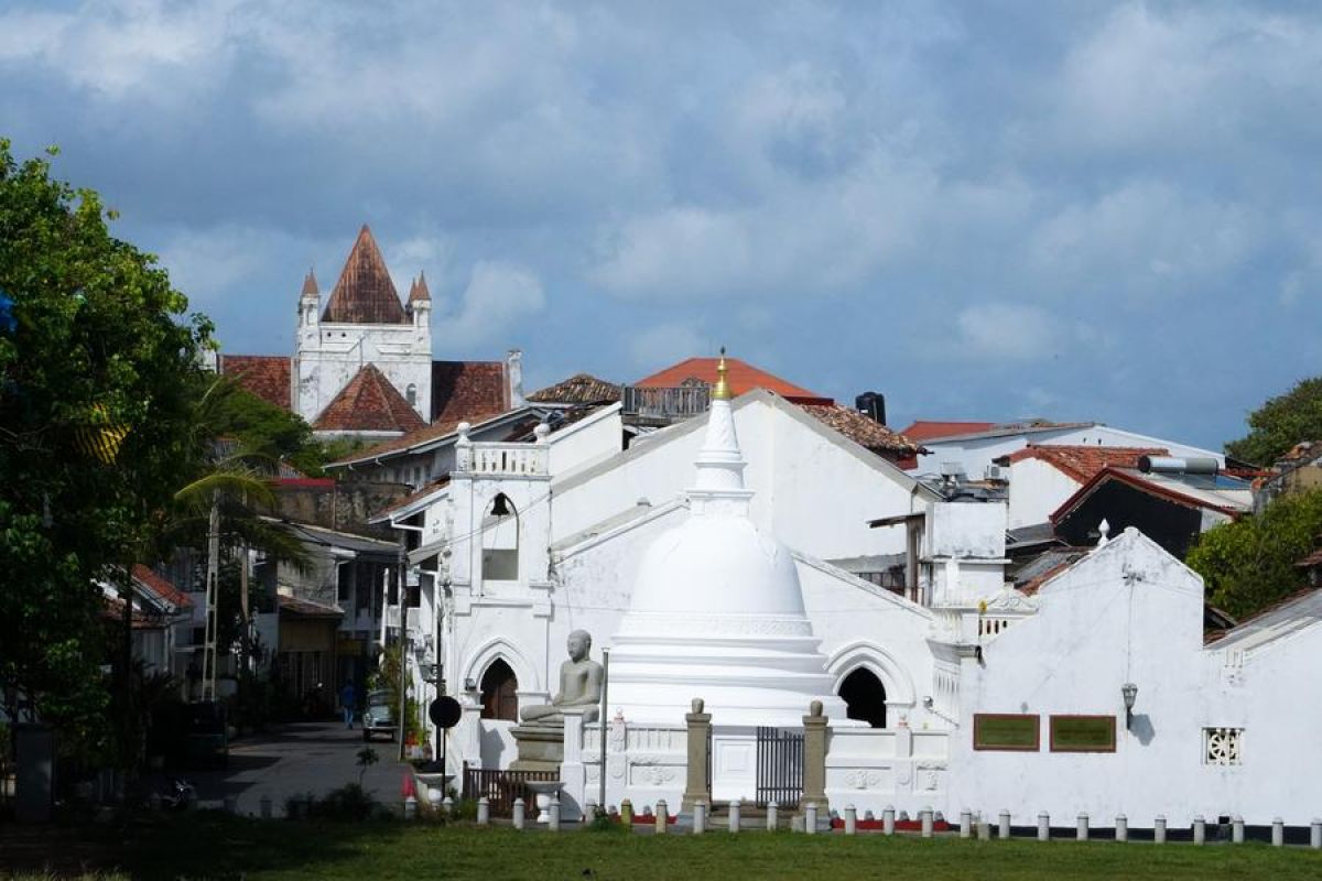
<path fill-rule="evenodd" d="M 41 837 L 44 836 L 44 837 Z M 746 832 L 514 832 L 403 823 L 245 820 L 209 812 L 128 828 L 0 829 L 0 877 L 132 878 L 1214 878 L 1322 877 L 1322 852 L 1263 844 L 961 841 Z M 46 874 L 49 872 L 50 874 Z"/>

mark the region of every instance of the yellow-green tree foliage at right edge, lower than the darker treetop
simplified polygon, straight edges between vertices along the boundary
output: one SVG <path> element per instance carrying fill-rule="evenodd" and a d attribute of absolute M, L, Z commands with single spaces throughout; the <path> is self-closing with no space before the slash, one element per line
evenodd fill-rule
<path fill-rule="evenodd" d="M 1294 565 L 1322 534 L 1322 490 L 1277 499 L 1261 514 L 1198 538 L 1186 563 L 1207 585 L 1207 600 L 1231 616 L 1252 614 L 1303 586 Z"/>

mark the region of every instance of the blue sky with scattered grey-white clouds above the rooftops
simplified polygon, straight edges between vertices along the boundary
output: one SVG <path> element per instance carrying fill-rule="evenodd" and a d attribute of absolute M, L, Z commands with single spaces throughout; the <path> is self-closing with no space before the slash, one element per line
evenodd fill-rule
<path fill-rule="evenodd" d="M 1322 7 L 21 3 L 58 144 L 231 353 L 364 222 L 438 358 L 529 386 L 719 345 L 912 417 L 1219 446 L 1322 374 Z"/>

